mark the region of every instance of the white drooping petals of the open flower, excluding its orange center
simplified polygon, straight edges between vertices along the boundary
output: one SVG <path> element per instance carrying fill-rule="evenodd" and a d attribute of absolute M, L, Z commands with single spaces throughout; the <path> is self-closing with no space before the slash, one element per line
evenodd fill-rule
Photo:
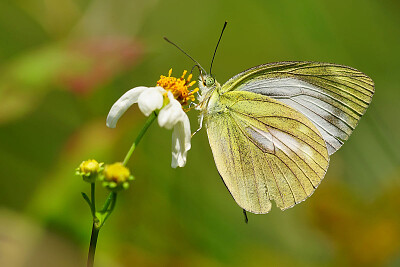
<path fill-rule="evenodd" d="M 167 92 L 169 103 L 163 107 L 164 94 Z M 190 122 L 182 105 L 174 98 L 170 91 L 162 87 L 135 87 L 111 107 L 107 116 L 107 126 L 115 128 L 119 118 L 133 104 L 138 103 L 140 111 L 149 116 L 152 112 L 160 110 L 158 124 L 160 127 L 172 129 L 172 162 L 171 167 L 183 167 L 186 164 L 186 155 L 190 149 Z"/>

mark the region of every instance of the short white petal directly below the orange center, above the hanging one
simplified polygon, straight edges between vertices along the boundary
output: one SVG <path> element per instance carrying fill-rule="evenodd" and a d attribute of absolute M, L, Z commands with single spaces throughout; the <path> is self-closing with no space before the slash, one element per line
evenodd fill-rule
<path fill-rule="evenodd" d="M 171 92 L 168 92 L 169 103 L 160 110 L 158 114 L 158 125 L 165 127 L 168 130 L 172 129 L 182 116 L 186 113 L 182 110 L 181 104 L 174 98 Z"/>

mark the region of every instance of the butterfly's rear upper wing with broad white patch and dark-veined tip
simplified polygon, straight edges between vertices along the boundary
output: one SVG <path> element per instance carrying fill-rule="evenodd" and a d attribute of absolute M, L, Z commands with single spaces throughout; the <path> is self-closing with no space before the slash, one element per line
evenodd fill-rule
<path fill-rule="evenodd" d="M 221 94 L 231 90 L 269 96 L 300 111 L 322 134 L 331 155 L 349 138 L 365 113 L 374 83 L 347 66 L 278 62 L 234 76 L 222 86 Z"/>

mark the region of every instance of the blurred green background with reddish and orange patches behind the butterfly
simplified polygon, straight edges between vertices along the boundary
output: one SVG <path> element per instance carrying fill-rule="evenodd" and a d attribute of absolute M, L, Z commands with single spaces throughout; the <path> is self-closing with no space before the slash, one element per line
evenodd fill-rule
<path fill-rule="evenodd" d="M 399 266 L 399 14 L 396 0 L 1 0 L 0 265 L 85 265 L 89 186 L 74 169 L 122 160 L 145 121 L 134 107 L 108 129 L 111 105 L 171 67 L 190 70 L 163 36 L 208 68 L 228 20 L 219 82 L 267 62 L 339 63 L 375 81 L 370 108 L 312 197 L 247 225 L 205 131 L 171 169 L 171 132 L 152 125 L 97 266 Z"/>

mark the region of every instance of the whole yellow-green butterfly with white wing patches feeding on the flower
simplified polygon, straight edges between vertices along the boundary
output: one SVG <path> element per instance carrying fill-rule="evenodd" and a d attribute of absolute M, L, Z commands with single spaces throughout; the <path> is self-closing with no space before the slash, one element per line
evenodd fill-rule
<path fill-rule="evenodd" d="M 354 68 L 301 61 L 256 66 L 222 86 L 206 74 L 199 88 L 218 172 L 237 204 L 256 214 L 313 194 L 374 94 L 371 78 Z"/>

